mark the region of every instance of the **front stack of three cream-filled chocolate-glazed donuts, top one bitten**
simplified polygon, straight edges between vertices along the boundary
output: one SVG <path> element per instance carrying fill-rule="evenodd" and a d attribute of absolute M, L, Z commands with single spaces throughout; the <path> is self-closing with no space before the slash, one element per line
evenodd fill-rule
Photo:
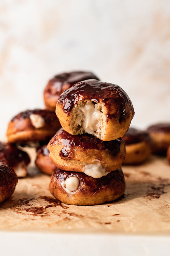
<path fill-rule="evenodd" d="M 64 91 L 56 103 L 62 128 L 47 145 L 56 168 L 49 189 L 67 204 L 94 205 L 119 198 L 125 190 L 121 139 L 134 108 L 118 85 L 83 80 Z"/>

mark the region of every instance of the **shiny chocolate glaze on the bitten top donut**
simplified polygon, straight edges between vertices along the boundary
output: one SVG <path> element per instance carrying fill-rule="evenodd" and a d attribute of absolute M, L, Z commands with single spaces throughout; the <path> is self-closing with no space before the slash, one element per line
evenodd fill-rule
<path fill-rule="evenodd" d="M 125 119 L 126 105 L 129 103 L 132 106 L 130 98 L 120 86 L 94 79 L 78 82 L 64 91 L 58 98 L 58 103 L 62 105 L 62 110 L 69 116 L 73 106 L 82 100 L 103 102 L 108 110 L 107 121 L 110 118 L 118 118 L 120 123 Z"/>

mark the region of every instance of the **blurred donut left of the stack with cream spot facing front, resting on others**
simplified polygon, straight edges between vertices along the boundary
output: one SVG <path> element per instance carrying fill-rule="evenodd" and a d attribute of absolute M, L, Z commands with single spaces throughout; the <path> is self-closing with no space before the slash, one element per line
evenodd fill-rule
<path fill-rule="evenodd" d="M 46 141 L 60 128 L 55 113 L 48 110 L 26 110 L 12 118 L 7 128 L 10 143 Z"/>

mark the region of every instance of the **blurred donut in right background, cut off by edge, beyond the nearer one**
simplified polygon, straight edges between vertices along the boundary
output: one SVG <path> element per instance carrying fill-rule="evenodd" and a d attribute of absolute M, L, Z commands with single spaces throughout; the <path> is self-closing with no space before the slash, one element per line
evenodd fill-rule
<path fill-rule="evenodd" d="M 152 152 L 166 155 L 170 146 L 170 123 L 157 123 L 147 129 L 152 140 Z"/>

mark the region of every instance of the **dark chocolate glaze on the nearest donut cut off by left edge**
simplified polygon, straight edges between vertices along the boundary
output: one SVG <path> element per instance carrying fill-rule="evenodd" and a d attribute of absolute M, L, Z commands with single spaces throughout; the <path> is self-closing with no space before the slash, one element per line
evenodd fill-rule
<path fill-rule="evenodd" d="M 0 186 L 17 185 L 18 178 L 15 171 L 9 166 L 0 162 Z"/>

